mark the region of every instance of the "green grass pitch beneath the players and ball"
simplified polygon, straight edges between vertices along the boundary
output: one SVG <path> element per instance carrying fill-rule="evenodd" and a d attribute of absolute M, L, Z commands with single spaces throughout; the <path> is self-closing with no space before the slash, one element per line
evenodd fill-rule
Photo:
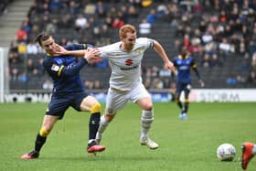
<path fill-rule="evenodd" d="M 58 122 L 40 157 L 21 160 L 34 148 L 46 103 L 0 104 L 0 171 L 239 171 L 240 144 L 256 143 L 255 103 L 190 103 L 188 120 L 178 119 L 176 103 L 155 103 L 150 137 L 160 147 L 139 144 L 140 109 L 130 103 L 109 125 L 97 156 L 86 153 L 88 112 L 69 109 Z M 219 144 L 236 147 L 233 162 L 219 162 Z M 248 170 L 256 170 L 256 157 Z"/>

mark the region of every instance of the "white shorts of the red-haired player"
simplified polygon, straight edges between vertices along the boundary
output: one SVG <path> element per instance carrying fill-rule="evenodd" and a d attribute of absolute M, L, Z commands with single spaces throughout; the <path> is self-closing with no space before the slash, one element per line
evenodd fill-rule
<path fill-rule="evenodd" d="M 145 97 L 150 97 L 150 94 L 144 88 L 143 83 L 140 83 L 131 91 L 118 91 L 112 88 L 109 89 L 106 101 L 106 112 L 115 114 L 123 109 L 127 102 L 137 102 Z"/>

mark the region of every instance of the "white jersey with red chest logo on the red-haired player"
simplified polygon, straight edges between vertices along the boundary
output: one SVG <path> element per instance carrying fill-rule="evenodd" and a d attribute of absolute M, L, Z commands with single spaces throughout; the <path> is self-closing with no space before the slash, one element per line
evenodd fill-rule
<path fill-rule="evenodd" d="M 153 48 L 153 39 L 136 38 L 133 49 L 129 52 L 121 49 L 122 42 L 99 48 L 100 58 L 109 59 L 112 68 L 110 87 L 120 91 L 130 91 L 141 79 L 141 62 L 144 51 Z"/>

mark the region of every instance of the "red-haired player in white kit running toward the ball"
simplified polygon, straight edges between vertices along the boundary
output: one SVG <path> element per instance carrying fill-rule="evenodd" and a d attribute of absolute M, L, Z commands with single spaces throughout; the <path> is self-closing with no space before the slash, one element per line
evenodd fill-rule
<path fill-rule="evenodd" d="M 168 59 L 165 49 L 154 39 L 136 37 L 136 28 L 124 25 L 119 30 L 120 42 L 98 48 L 100 58 L 109 59 L 112 68 L 110 88 L 107 94 L 105 114 L 101 116 L 101 123 L 96 135 L 100 143 L 102 133 L 111 123 L 116 112 L 123 109 L 127 102 L 134 102 L 143 110 L 141 117 L 140 144 L 150 149 L 158 148 L 148 137 L 151 124 L 154 121 L 153 102 L 150 94 L 144 88 L 141 79 L 141 62 L 144 51 L 154 48 L 165 62 L 167 69 L 174 69 L 173 63 Z"/>

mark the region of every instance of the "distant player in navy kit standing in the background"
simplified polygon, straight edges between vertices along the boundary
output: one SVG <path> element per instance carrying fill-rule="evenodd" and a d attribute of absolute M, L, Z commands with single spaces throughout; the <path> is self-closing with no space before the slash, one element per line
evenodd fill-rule
<path fill-rule="evenodd" d="M 182 48 L 180 54 L 173 60 L 176 67 L 176 104 L 180 108 L 181 112 L 179 118 L 181 120 L 187 120 L 187 110 L 188 110 L 188 95 L 191 90 L 191 76 L 190 69 L 192 68 L 199 80 L 201 87 L 205 86 L 203 80 L 201 80 L 200 74 L 197 70 L 197 64 L 195 60 L 188 54 L 187 48 Z M 180 101 L 181 92 L 184 91 L 185 102 L 184 104 Z"/>

